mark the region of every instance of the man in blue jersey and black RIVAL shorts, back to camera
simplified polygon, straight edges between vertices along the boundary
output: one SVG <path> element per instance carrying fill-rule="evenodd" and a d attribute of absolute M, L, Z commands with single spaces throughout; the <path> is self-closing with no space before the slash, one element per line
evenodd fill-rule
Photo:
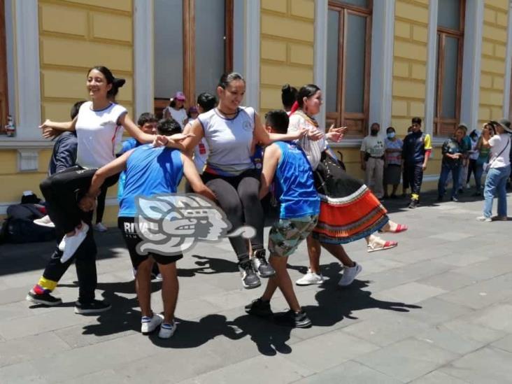
<path fill-rule="evenodd" d="M 157 127 L 159 135 L 170 135 L 176 129 L 175 120 L 161 120 Z M 180 134 L 187 137 L 187 135 Z M 157 136 L 157 141 L 163 136 Z M 183 138 L 182 137 L 182 138 Z M 166 140 L 166 138 L 164 138 Z M 135 228 L 136 197 L 150 197 L 155 194 L 176 193 L 183 173 L 192 185 L 194 192 L 215 201 L 215 195 L 206 187 L 197 173 L 194 162 L 180 151 L 164 146 L 155 147 L 151 144 L 140 145 L 129 150 L 113 162 L 99 169 L 92 178 L 87 195 L 80 201 L 80 208 L 87 211 L 94 207 L 94 199 L 99 193 L 101 184 L 111 175 L 125 171 L 125 187 L 120 199 L 118 225 L 127 244 L 131 263 L 137 270 L 136 292 L 138 304 L 141 306 L 141 332 L 149 334 L 159 325 L 159 337 L 168 339 L 176 330 L 174 310 L 178 300 L 178 277 L 176 261 L 183 255 L 158 255 L 138 252 L 137 245 L 142 241 Z M 151 310 L 150 273 L 153 262 L 157 262 L 162 273 L 162 301 L 164 315 L 155 314 Z"/>

